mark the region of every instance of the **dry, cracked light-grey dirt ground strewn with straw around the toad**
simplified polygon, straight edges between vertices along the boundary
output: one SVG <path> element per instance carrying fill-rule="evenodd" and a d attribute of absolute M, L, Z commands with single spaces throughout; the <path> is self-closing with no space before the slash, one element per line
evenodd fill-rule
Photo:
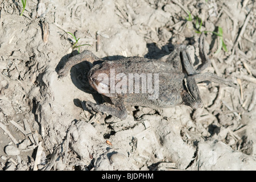
<path fill-rule="evenodd" d="M 254 3 L 28 0 L 19 16 L 21 1 L 1 1 L 0 169 L 255 170 Z M 87 63 L 58 79 L 58 69 L 78 51 L 67 32 L 81 38 L 78 44 L 91 45 L 80 51 L 90 49 L 105 60 L 158 58 L 181 43 L 198 55 L 201 20 L 201 31 L 223 29 L 227 48 L 215 53 L 221 37 L 207 33 L 212 65 L 206 72 L 239 85 L 198 84 L 203 109 L 131 106 L 122 121 L 86 111 L 83 101 L 102 101 L 86 80 Z M 43 23 L 49 26 L 46 42 Z"/>

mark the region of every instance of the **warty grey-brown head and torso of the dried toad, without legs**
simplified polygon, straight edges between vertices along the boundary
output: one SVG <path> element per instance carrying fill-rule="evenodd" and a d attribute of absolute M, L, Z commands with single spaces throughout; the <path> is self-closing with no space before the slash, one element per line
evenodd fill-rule
<path fill-rule="evenodd" d="M 124 74 L 126 77 L 126 87 L 125 93 L 111 93 L 110 91 L 110 71 L 114 73 L 116 78 L 118 74 Z M 90 85 L 97 90 L 98 84 L 101 80 L 98 80 L 98 75 L 105 73 L 108 76 L 108 83 L 105 83 L 108 86 L 108 93 L 102 93 L 106 97 L 122 97 L 125 105 L 138 105 L 138 106 L 147 106 L 152 108 L 163 108 L 163 107 L 173 107 L 175 105 L 182 104 L 183 100 L 181 97 L 181 92 L 183 88 L 183 79 L 186 77 L 185 73 L 179 72 L 177 69 L 174 69 L 171 64 L 162 62 L 160 60 L 149 60 L 143 57 L 128 57 L 125 59 L 120 59 L 117 61 L 105 61 L 102 64 L 95 65 L 90 69 L 88 73 L 88 78 Z M 137 75 L 136 75 L 137 74 Z M 143 76 L 146 78 L 143 81 L 146 81 L 146 85 L 142 85 L 142 79 L 139 80 L 139 92 L 135 93 L 135 78 L 136 76 Z M 147 75 L 149 74 L 149 75 Z M 157 75 L 155 75 L 157 74 Z M 151 77 L 152 88 L 155 93 L 149 93 L 147 89 L 147 78 Z M 92 79 L 93 78 L 93 79 Z M 133 80 L 133 88 L 129 85 L 129 78 Z M 122 78 L 123 79 L 123 78 Z M 156 79 L 156 80 L 155 80 Z M 159 81 L 158 85 L 155 85 L 155 81 Z M 117 85 L 120 80 L 115 79 L 115 84 Z M 146 87 L 146 93 L 142 93 L 142 87 Z M 154 88 L 154 87 L 158 88 Z M 132 89 L 132 90 L 129 90 Z M 180 93 L 179 93 L 180 92 Z M 149 99 L 150 96 L 155 94 L 155 99 Z"/>

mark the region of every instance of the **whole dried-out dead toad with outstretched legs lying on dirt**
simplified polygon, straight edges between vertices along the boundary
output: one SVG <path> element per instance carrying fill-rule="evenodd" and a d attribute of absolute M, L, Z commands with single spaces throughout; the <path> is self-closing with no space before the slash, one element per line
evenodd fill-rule
<path fill-rule="evenodd" d="M 177 45 L 174 51 L 161 59 L 126 57 L 115 61 L 104 61 L 91 51 L 71 57 L 58 71 L 59 77 L 66 76 L 73 65 L 82 61 L 101 63 L 94 65 L 89 73 L 90 85 L 102 94 L 111 105 L 94 104 L 87 101 L 89 110 L 103 112 L 125 119 L 126 105 L 167 108 L 185 104 L 193 109 L 202 107 L 198 82 L 213 81 L 237 88 L 231 80 L 218 77 L 213 73 L 201 73 L 211 61 L 205 50 L 205 35 L 199 38 L 199 56 L 202 63 L 193 67 L 187 47 Z M 141 81 L 141 82 L 140 82 Z M 154 89 L 153 89 L 154 88 Z"/>

